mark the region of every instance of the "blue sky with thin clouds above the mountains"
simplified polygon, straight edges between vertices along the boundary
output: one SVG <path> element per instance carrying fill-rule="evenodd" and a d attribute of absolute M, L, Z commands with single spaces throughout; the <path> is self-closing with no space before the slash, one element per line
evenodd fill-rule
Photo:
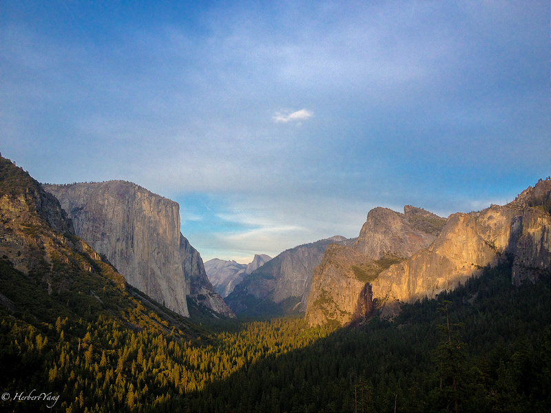
<path fill-rule="evenodd" d="M 203 260 L 374 207 L 505 204 L 551 173 L 550 2 L 0 0 L 0 151 L 135 182 Z"/>

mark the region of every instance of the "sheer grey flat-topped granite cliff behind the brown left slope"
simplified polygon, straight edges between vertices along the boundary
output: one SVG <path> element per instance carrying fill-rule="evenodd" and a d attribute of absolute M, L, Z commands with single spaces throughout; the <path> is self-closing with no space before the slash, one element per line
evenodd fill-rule
<path fill-rule="evenodd" d="M 124 181 L 44 187 L 67 211 L 76 235 L 105 255 L 130 285 L 185 317 L 187 296 L 231 315 L 214 293 L 199 253 L 180 233 L 176 202 Z"/>

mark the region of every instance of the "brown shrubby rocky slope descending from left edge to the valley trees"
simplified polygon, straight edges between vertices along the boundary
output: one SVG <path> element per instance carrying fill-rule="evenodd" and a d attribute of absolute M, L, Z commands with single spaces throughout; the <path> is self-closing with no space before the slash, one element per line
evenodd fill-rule
<path fill-rule="evenodd" d="M 58 200 L 1 156 L 0 222 L 0 313 L 6 319 L 43 328 L 67 317 L 75 324 L 84 319 L 185 339 L 204 334 L 129 286 L 75 235 Z"/>

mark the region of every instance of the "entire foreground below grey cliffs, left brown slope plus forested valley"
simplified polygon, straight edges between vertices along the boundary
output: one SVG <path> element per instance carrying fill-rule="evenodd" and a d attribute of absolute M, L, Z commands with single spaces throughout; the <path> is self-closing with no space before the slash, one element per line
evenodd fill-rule
<path fill-rule="evenodd" d="M 0 404 L 13 412 L 548 411 L 550 275 L 513 257 L 355 326 L 202 326 L 128 286 L 0 162 Z M 506 258 L 507 255 L 504 257 Z M 196 310 L 194 310 L 196 311 Z"/>

